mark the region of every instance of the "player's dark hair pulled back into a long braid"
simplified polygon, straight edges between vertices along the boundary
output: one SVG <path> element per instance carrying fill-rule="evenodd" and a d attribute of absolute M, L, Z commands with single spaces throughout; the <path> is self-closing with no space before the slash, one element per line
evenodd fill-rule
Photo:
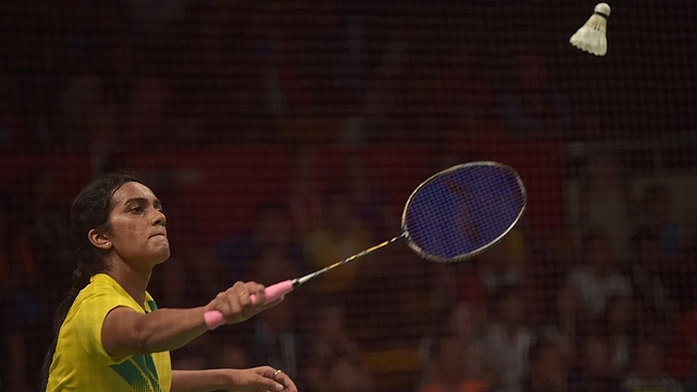
<path fill-rule="evenodd" d="M 53 341 L 44 359 L 42 376 L 45 382 L 48 380 L 48 371 L 56 353 L 58 333 L 68 316 L 68 311 L 80 291 L 89 283 L 89 278 L 107 270 L 102 250 L 93 246 L 87 235 L 93 229 L 100 231 L 109 229 L 109 215 L 112 208 L 113 194 L 129 182 L 140 181 L 133 173 L 126 171 L 102 174 L 85 186 L 73 200 L 70 209 L 71 234 L 80 252 L 80 260 L 73 271 L 72 287 L 65 299 L 56 309 Z"/>

